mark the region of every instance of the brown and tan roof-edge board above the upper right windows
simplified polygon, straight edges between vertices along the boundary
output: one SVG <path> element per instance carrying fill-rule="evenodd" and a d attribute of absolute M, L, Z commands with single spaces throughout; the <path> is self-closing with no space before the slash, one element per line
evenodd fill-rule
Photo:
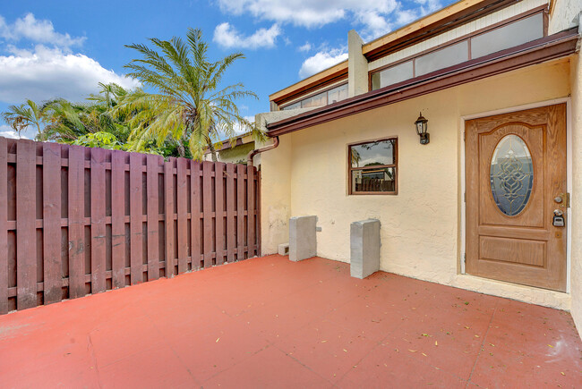
<path fill-rule="evenodd" d="M 461 8 L 457 12 L 450 13 L 451 8 L 464 4 L 458 2 L 436 13 L 425 16 L 419 21 L 415 21 L 399 30 L 396 30 L 384 37 L 377 38 L 362 47 L 362 54 L 368 62 L 377 60 L 405 47 L 415 45 L 421 40 L 432 38 L 443 32 L 457 28 L 461 24 L 466 24 L 484 15 L 500 11 L 509 5 L 517 4 L 522 0 L 484 0 L 476 2 L 466 8 Z M 465 2 L 466 3 L 466 2 Z M 450 13 L 448 16 L 445 16 Z M 433 21 L 430 21 L 430 20 Z M 429 21 L 427 23 L 427 21 Z"/>

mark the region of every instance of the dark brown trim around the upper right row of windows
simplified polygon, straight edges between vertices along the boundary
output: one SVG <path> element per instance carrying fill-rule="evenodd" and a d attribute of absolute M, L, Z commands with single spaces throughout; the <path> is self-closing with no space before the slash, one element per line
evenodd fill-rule
<path fill-rule="evenodd" d="M 447 42 L 441 43 L 441 45 L 437 45 L 435 47 L 430 47 L 427 48 L 419 53 L 413 54 L 413 55 L 408 55 L 406 58 L 402 58 L 399 59 L 398 61 L 392 62 L 392 63 L 387 63 L 385 65 L 382 65 L 379 68 L 376 68 L 370 72 L 368 72 L 368 90 L 372 90 L 372 75 L 378 72 L 383 72 L 387 69 L 393 68 L 395 66 L 398 66 L 401 63 L 407 63 L 409 61 L 412 61 L 412 72 L 413 72 L 413 77 L 416 77 L 416 59 L 424 56 L 424 55 L 428 55 L 431 54 L 433 52 L 437 52 L 437 51 L 441 51 L 444 48 L 447 48 L 449 46 L 453 46 L 456 45 L 464 40 L 467 41 L 467 47 L 468 47 L 468 58 L 467 61 L 472 60 L 472 56 L 471 56 L 471 39 L 475 38 L 479 35 L 483 35 L 489 31 L 492 30 L 497 30 L 497 29 L 501 29 L 502 27 L 505 27 L 511 23 L 514 23 L 516 21 L 520 21 L 522 19 L 526 19 L 530 16 L 534 16 L 537 13 L 543 13 L 542 19 L 543 19 L 543 37 L 547 37 L 548 36 L 548 5 L 547 4 L 543 4 L 543 5 L 539 5 L 535 8 L 532 8 L 531 10 L 526 11 L 525 13 L 519 13 L 515 16 L 512 16 L 508 19 L 505 19 L 503 21 L 498 21 L 496 23 L 493 23 L 490 26 L 486 26 L 483 29 L 479 29 L 479 30 L 475 30 L 473 32 L 469 32 L 468 34 L 462 36 L 462 37 L 458 37 L 458 38 L 454 38 L 451 39 Z M 389 85 L 384 85 L 381 88 L 385 88 L 388 87 Z"/>

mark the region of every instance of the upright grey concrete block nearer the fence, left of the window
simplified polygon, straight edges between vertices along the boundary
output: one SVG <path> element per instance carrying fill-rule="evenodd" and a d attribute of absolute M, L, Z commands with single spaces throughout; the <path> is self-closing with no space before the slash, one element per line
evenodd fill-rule
<path fill-rule="evenodd" d="M 317 255 L 315 228 L 317 216 L 296 216 L 289 219 L 289 259 L 296 262 Z"/>

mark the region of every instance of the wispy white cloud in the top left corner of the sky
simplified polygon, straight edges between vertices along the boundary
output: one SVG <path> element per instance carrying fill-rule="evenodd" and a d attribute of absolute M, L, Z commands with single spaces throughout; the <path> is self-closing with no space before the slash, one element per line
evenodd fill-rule
<path fill-rule="evenodd" d="M 13 42 L 28 39 L 34 43 L 50 44 L 67 50 L 72 46 L 81 46 L 85 41 L 85 37 L 72 38 L 69 34 L 56 32 L 51 21 L 38 20 L 32 13 L 16 19 L 13 24 L 6 23 L 0 16 L 0 37 Z"/>

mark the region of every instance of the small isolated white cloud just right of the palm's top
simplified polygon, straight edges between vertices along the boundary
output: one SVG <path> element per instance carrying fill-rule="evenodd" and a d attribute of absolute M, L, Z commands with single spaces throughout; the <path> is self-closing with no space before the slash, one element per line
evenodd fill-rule
<path fill-rule="evenodd" d="M 220 23 L 214 29 L 213 40 L 222 47 L 242 47 L 256 49 L 260 47 L 275 47 L 277 37 L 281 34 L 278 24 L 273 24 L 270 29 L 256 30 L 250 36 L 244 36 L 228 22 Z"/>

